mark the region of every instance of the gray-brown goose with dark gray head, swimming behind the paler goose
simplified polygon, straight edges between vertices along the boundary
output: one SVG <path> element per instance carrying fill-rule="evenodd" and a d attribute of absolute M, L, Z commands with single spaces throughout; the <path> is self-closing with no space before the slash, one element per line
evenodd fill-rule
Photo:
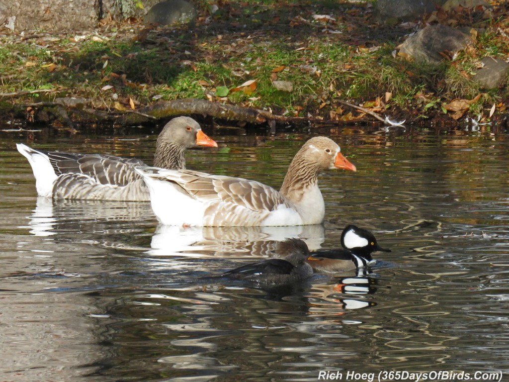
<path fill-rule="evenodd" d="M 217 147 L 200 124 L 177 117 L 162 129 L 156 142 L 154 166 L 185 169 L 184 152 L 197 145 Z M 142 177 L 134 171 L 145 166 L 135 158 L 114 155 L 40 151 L 21 143 L 18 151 L 29 160 L 36 178 L 37 194 L 54 199 L 149 201 Z"/>

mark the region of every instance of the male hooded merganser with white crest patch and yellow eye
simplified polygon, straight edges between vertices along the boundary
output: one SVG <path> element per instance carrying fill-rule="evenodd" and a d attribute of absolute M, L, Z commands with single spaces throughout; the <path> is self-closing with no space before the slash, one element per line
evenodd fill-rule
<path fill-rule="evenodd" d="M 368 230 L 347 226 L 341 234 L 342 249 L 313 252 L 307 263 L 314 270 L 340 272 L 362 268 L 374 262 L 371 254 L 375 251 L 391 252 L 381 248 L 375 236 Z"/>

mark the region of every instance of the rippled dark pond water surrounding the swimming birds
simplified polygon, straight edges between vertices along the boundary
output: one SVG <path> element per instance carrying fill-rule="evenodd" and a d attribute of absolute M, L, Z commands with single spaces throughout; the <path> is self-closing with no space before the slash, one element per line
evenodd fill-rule
<path fill-rule="evenodd" d="M 157 131 L 0 132 L 0 380 L 509 373 L 506 132 L 205 128 L 220 147 L 190 150 L 188 168 L 276 188 L 303 141 L 340 144 L 357 172 L 323 174 L 324 225 L 289 228 L 163 227 L 147 203 L 52 203 L 37 198 L 15 150 L 22 142 L 151 163 Z M 350 223 L 392 249 L 375 254 L 370 275 L 272 289 L 214 278 L 270 256 L 285 237 L 336 248 Z"/>

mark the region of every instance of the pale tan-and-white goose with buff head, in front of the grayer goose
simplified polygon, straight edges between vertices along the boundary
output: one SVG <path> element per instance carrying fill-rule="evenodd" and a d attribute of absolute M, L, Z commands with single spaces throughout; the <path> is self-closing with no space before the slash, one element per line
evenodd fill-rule
<path fill-rule="evenodd" d="M 326 137 L 307 141 L 295 155 L 279 192 L 260 182 L 139 167 L 161 224 L 172 226 L 299 226 L 320 224 L 325 203 L 318 175 L 326 169 L 356 168 Z"/>

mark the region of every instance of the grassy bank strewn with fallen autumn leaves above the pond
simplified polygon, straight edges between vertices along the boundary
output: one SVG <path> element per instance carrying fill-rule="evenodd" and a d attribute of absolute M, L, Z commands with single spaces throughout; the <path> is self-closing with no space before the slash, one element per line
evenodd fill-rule
<path fill-rule="evenodd" d="M 359 115 L 340 100 L 418 120 L 450 118 L 446 106 L 465 99 L 474 100 L 466 115 L 486 119 L 493 105 L 494 117 L 505 113 L 509 87 L 482 92 L 472 78 L 483 57 L 509 56 L 505 7 L 489 19 L 474 20 L 467 10 L 447 14 L 442 22 L 478 34 L 471 48 L 439 66 L 395 55 L 416 27 L 376 24 L 372 4 L 358 2 L 224 2 L 214 15 L 204 2 L 192 25 L 108 21 L 86 33 L 4 34 L 0 93 L 4 107 L 73 96 L 123 111 L 199 98 L 333 121 Z M 292 90 L 278 90 L 274 81 Z M 23 93 L 34 90 L 47 92 Z"/>

